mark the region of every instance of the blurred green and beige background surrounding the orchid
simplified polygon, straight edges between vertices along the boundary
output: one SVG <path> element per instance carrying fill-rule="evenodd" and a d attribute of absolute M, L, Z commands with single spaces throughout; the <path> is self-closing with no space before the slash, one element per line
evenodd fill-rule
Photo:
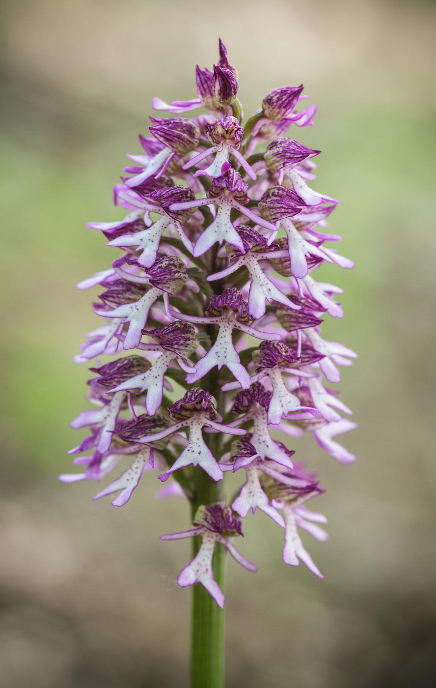
<path fill-rule="evenodd" d="M 195 96 L 217 36 L 246 113 L 303 81 L 321 149 L 316 189 L 340 198 L 331 229 L 353 271 L 346 316 L 324 332 L 357 350 L 342 398 L 360 427 L 344 468 L 312 442 L 301 458 L 327 493 L 325 580 L 281 562 L 269 519 L 246 519 L 256 576 L 228 570 L 228 688 L 426 688 L 436 682 L 435 4 L 415 0 L 20 0 L 2 12 L 4 369 L 0 464 L 1 688 L 187 686 L 188 591 L 175 578 L 188 523 L 142 480 L 122 509 L 66 486 L 69 420 L 87 407 L 72 363 L 94 329 L 75 283 L 110 259 L 91 220 L 120 217 L 111 186 L 139 152 L 150 99 Z"/>

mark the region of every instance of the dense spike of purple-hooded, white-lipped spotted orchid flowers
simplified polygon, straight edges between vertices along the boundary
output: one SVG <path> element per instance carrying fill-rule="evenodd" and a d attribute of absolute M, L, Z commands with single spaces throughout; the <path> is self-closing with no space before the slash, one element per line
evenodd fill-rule
<path fill-rule="evenodd" d="M 303 85 L 273 89 L 244 123 L 221 41 L 217 65 L 197 67 L 196 84 L 193 100 L 153 99 L 171 116 L 151 117 L 143 152 L 129 155 L 133 165 L 115 186 L 127 215 L 89 224 L 118 252 L 78 285 L 99 286 L 103 324 L 76 361 L 110 360 L 91 367 L 95 408 L 72 423 L 89 427 L 71 452 L 84 472 L 61 480 L 99 481 L 122 464 L 96 495 L 116 493 L 112 504 L 122 506 L 142 474 L 157 471 L 160 496 L 198 506 L 192 529 L 162 535 L 201 536 L 179 585 L 201 583 L 222 606 L 212 554 L 218 543 L 256 570 L 230 540 L 250 511 L 283 528 L 285 563 L 303 561 L 322 577 L 299 530 L 327 538 L 318 525 L 325 517 L 305 506 L 323 489 L 289 445 L 306 431 L 342 464 L 354 459 L 335 439 L 355 427 L 351 411 L 329 385 L 356 354 L 321 335 L 326 316 L 342 317 L 342 290 L 314 277 L 324 262 L 353 264 L 326 246 L 340 240 L 325 230 L 338 201 L 308 185 L 320 151 L 285 136 L 291 125 L 313 125 L 316 106 L 300 105 Z M 184 116 L 198 107 L 206 113 Z M 201 502 L 198 471 L 216 487 L 215 502 Z M 228 471 L 245 475 L 226 502 L 218 486 Z"/>

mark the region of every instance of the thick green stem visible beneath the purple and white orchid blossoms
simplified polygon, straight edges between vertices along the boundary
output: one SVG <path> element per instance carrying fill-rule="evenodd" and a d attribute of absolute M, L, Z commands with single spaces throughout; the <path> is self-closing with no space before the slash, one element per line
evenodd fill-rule
<path fill-rule="evenodd" d="M 204 471 L 196 473 L 197 491 L 191 502 L 193 518 L 201 504 L 212 504 L 220 498 L 220 486 Z M 195 557 L 201 538 L 194 537 L 192 542 Z M 215 581 L 224 590 L 226 549 L 218 544 L 212 568 Z M 224 610 L 201 583 L 193 586 L 190 675 L 191 688 L 224 688 Z"/>

